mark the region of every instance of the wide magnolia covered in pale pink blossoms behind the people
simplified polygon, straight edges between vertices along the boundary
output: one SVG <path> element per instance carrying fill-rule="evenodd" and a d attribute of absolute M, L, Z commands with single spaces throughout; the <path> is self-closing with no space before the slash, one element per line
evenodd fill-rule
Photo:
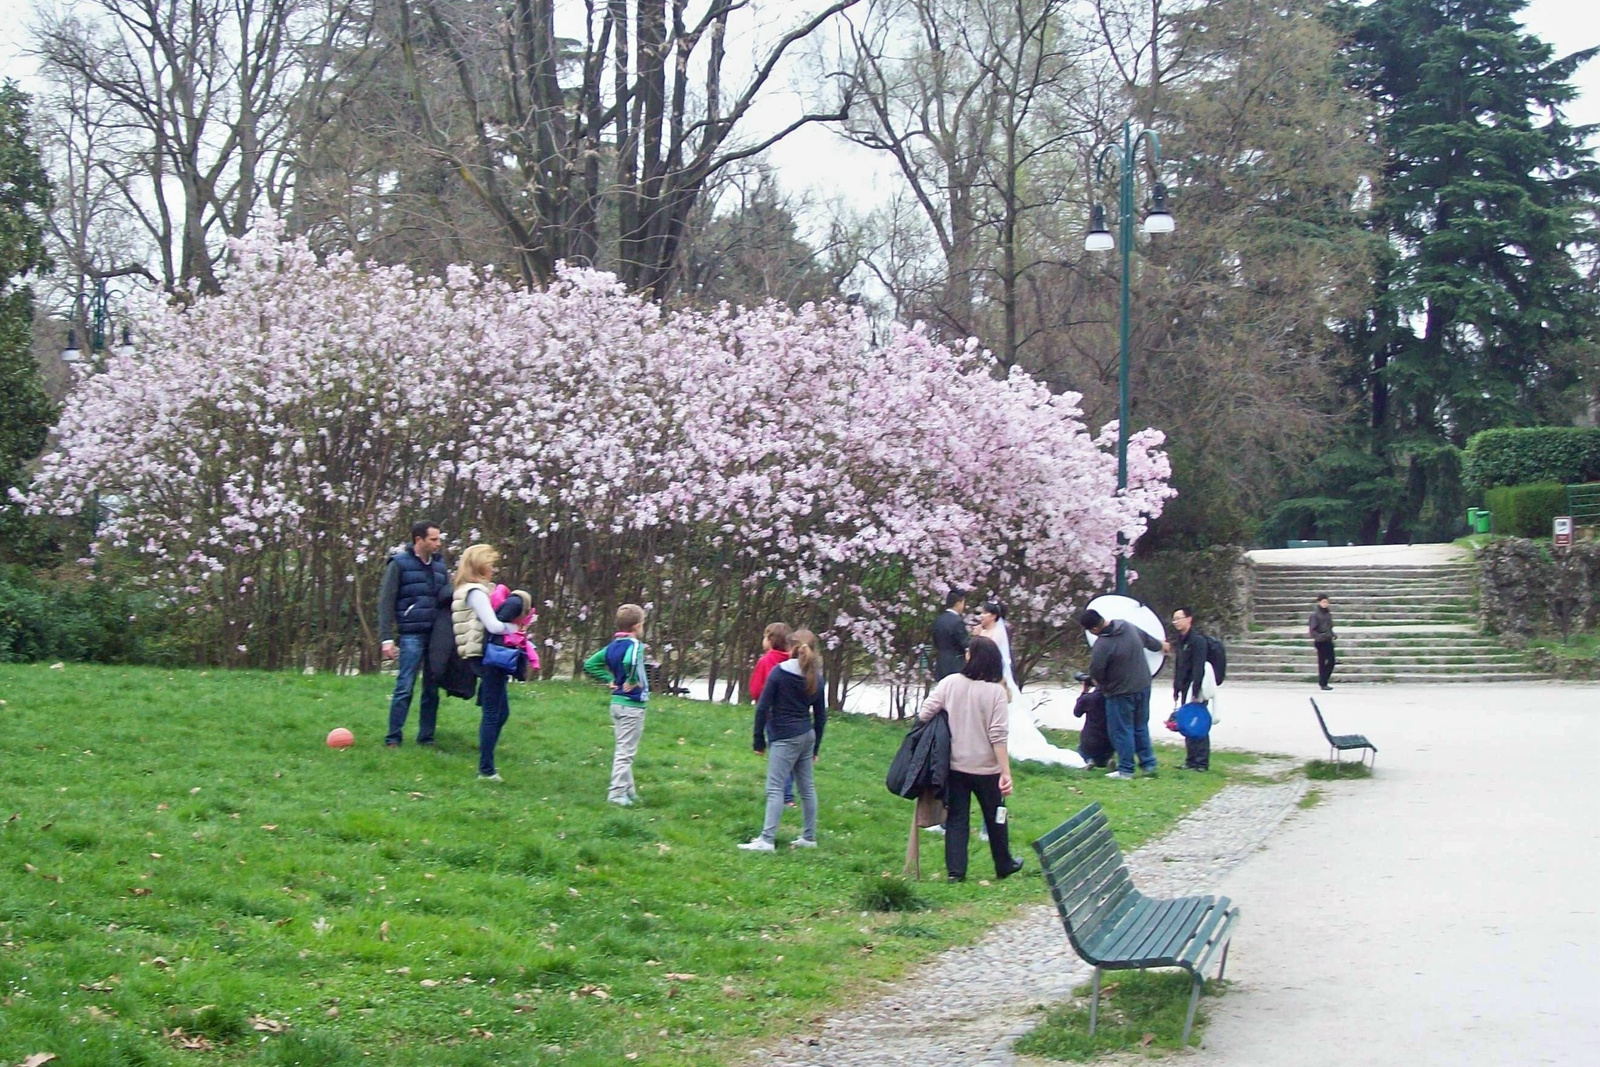
<path fill-rule="evenodd" d="M 80 386 L 19 494 L 96 502 L 96 553 L 139 560 L 210 661 L 370 664 L 382 561 L 427 515 L 501 545 L 552 651 L 642 600 L 678 667 L 733 677 L 786 619 L 837 683 L 904 669 L 952 584 L 1062 622 L 1171 496 L 1158 432 L 1118 494 L 1077 395 L 915 328 L 872 344 L 840 306 L 667 315 L 595 272 L 232 251 L 219 296 Z"/>

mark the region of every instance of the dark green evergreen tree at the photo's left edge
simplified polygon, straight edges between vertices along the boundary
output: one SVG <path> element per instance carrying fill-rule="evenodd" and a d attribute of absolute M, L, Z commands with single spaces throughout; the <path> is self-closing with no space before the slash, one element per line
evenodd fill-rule
<path fill-rule="evenodd" d="M 34 293 L 19 282 L 48 267 L 50 181 L 30 141 L 27 106 L 14 83 L 0 86 L 0 506 L 56 419 L 32 352 Z"/>

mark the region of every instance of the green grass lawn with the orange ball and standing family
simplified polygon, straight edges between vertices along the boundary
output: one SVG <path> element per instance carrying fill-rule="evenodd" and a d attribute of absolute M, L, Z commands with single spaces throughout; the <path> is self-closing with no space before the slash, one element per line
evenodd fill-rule
<path fill-rule="evenodd" d="M 822 846 L 784 848 L 786 814 L 779 853 L 747 854 L 747 709 L 653 705 L 645 798 L 621 809 L 603 689 L 514 686 L 494 785 L 461 701 L 437 749 L 386 750 L 389 686 L 0 665 L 0 1064 L 723 1062 L 1045 901 L 1027 841 L 1085 803 L 1131 848 L 1250 761 L 1133 782 L 1022 765 L 1029 870 L 981 885 L 974 833 L 970 881 L 946 885 L 925 837 L 925 910 L 880 913 L 861 902 L 902 865 L 910 805 L 883 789 L 902 725 L 832 720 Z M 333 726 L 355 747 L 325 747 Z"/>

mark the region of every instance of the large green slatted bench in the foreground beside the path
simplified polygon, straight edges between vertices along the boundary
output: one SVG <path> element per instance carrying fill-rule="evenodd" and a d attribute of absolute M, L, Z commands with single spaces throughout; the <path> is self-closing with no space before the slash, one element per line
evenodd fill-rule
<path fill-rule="evenodd" d="M 1090 1033 L 1099 1019 L 1101 971 L 1142 971 L 1176 966 L 1194 977 L 1189 1016 L 1184 1019 L 1184 1046 L 1200 1003 L 1205 968 L 1218 949 L 1222 960 L 1216 976 L 1227 969 L 1229 931 L 1238 909 L 1216 896 L 1184 896 L 1171 901 L 1147 897 L 1133 888 L 1122 849 L 1110 835 L 1110 824 L 1098 803 L 1077 813 L 1034 841 L 1050 896 L 1061 912 L 1072 949 L 1094 965 L 1094 995 L 1090 1000 Z"/>

